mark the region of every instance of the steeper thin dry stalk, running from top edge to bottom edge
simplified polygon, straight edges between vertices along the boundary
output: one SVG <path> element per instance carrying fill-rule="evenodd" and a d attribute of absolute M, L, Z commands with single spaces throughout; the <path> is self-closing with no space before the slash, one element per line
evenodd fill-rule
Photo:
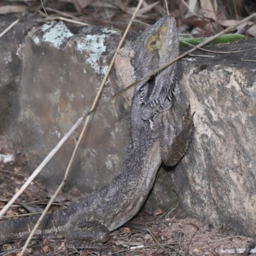
<path fill-rule="evenodd" d="M 96 95 L 96 97 L 95 97 L 95 100 L 94 100 L 94 102 L 93 102 L 93 104 L 92 104 L 91 111 L 93 111 L 93 109 L 95 109 L 95 107 L 96 107 L 96 105 L 97 105 L 97 103 L 98 103 L 98 101 L 99 101 L 99 97 L 100 97 L 100 94 L 102 93 L 102 90 L 103 90 L 103 88 L 104 88 L 104 84 L 106 83 L 106 81 L 107 81 L 107 79 L 108 79 L 108 76 L 109 76 L 109 73 L 110 73 L 110 71 L 111 71 L 111 68 L 113 67 L 113 65 L 114 65 L 114 63 L 115 63 L 116 54 L 117 54 L 118 50 L 122 47 L 122 44 L 124 43 L 124 40 L 125 40 L 125 36 L 127 35 L 129 29 L 131 28 L 132 20 L 136 17 L 138 11 L 140 10 L 140 7 L 141 7 L 141 4 L 142 4 L 142 3 L 143 3 L 143 0 L 140 0 L 140 3 L 138 3 L 138 6 L 137 6 L 136 10 L 134 11 L 134 13 L 133 13 L 133 15 L 132 15 L 132 18 L 131 18 L 131 20 L 130 20 L 130 22 L 129 22 L 129 24 L 128 24 L 126 30 L 125 30 L 125 33 L 124 33 L 124 35 L 122 36 L 122 39 L 121 39 L 121 41 L 120 41 L 120 43 L 119 43 L 119 45 L 118 45 L 118 47 L 117 47 L 117 49 L 116 49 L 116 52 L 115 52 L 115 54 L 114 54 L 114 56 L 113 56 L 113 58 L 112 58 L 112 60 L 111 60 L 110 65 L 109 65 L 109 67 L 108 67 L 108 70 L 107 70 L 107 72 L 106 72 L 106 75 L 104 76 L 104 79 L 103 79 L 102 83 L 100 84 L 99 92 L 97 93 L 97 95 Z M 66 183 L 66 181 L 67 181 L 68 173 L 69 173 L 69 171 L 70 171 L 71 165 L 72 165 L 73 160 L 74 160 L 74 157 L 76 156 L 77 149 L 78 149 L 78 147 L 79 147 L 79 145 L 80 145 L 80 143 L 81 143 L 81 140 L 82 140 L 82 138 L 83 138 L 83 135 L 84 135 L 84 132 L 85 132 L 85 130 L 86 130 L 86 127 L 88 126 L 88 123 L 89 123 L 89 121 L 90 121 L 90 117 L 91 117 L 91 116 L 92 116 L 92 115 L 89 115 L 89 116 L 86 117 L 86 122 L 85 122 L 85 124 L 84 124 L 83 131 L 81 132 L 81 134 L 80 134 L 80 136 L 79 136 L 79 140 L 77 141 L 77 144 L 76 144 L 76 147 L 75 147 L 74 152 L 73 152 L 73 154 L 72 154 L 72 157 L 71 157 L 71 159 L 70 159 L 70 162 L 68 163 L 68 167 L 67 167 L 67 170 L 66 170 L 64 179 L 62 180 L 62 182 L 61 182 L 59 188 L 56 190 L 56 192 L 55 192 L 54 195 L 52 196 L 51 200 L 49 201 L 49 203 L 48 203 L 47 206 L 45 207 L 44 212 L 42 213 L 42 215 L 40 216 L 40 218 L 39 218 L 38 221 L 36 222 L 35 227 L 34 227 L 33 230 L 31 231 L 31 233 L 30 233 L 30 235 L 29 235 L 29 237 L 28 237 L 26 243 L 24 244 L 24 246 L 23 246 L 23 248 L 22 248 L 22 251 L 20 252 L 20 256 L 22 256 L 22 255 L 24 254 L 26 248 L 28 247 L 28 244 L 30 243 L 32 237 L 34 236 L 34 234 L 35 234 L 37 228 L 39 227 L 41 221 L 43 220 L 45 214 L 47 213 L 47 211 L 48 211 L 49 208 L 51 207 L 52 202 L 54 201 L 54 199 L 56 198 L 56 196 L 57 196 L 58 193 L 60 192 L 61 188 L 65 185 L 65 183 Z"/>

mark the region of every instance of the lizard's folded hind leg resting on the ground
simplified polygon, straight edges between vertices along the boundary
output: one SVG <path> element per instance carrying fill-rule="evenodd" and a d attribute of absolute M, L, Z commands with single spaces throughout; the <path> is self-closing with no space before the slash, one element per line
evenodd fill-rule
<path fill-rule="evenodd" d="M 81 221 L 76 226 L 77 230 L 66 236 L 65 245 L 67 247 L 99 250 L 102 243 L 109 239 L 108 228 L 97 221 Z"/>

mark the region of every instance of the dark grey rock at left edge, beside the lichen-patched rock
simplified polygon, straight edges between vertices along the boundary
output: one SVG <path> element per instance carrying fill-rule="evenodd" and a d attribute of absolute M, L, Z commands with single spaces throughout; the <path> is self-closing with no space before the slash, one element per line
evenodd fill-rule
<path fill-rule="evenodd" d="M 0 15 L 1 32 L 17 19 L 16 15 Z M 1 37 L 0 44 L 0 133 L 7 134 L 20 144 L 17 118 L 20 102 L 19 89 L 22 74 L 20 44 L 28 31 L 36 26 L 36 20 L 18 22 Z"/>

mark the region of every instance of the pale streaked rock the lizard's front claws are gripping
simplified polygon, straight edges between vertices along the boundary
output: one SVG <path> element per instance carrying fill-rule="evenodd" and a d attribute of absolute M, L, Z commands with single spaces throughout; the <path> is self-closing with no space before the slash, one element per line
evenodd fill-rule
<path fill-rule="evenodd" d="M 213 51 L 255 48 L 255 40 L 207 47 Z M 256 50 L 228 54 L 196 52 L 180 65 L 179 119 L 190 102 L 195 136 L 172 172 L 185 211 L 215 227 L 255 236 L 256 228 Z"/>

